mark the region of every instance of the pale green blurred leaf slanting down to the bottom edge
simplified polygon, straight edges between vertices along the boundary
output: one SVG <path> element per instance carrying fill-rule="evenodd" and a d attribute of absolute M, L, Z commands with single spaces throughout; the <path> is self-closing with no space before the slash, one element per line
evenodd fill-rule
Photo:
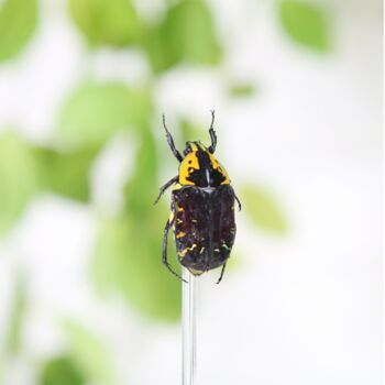
<path fill-rule="evenodd" d="M 65 331 L 70 356 L 81 373 L 94 384 L 116 384 L 111 355 L 105 344 L 88 328 L 75 321 L 66 321 Z"/>

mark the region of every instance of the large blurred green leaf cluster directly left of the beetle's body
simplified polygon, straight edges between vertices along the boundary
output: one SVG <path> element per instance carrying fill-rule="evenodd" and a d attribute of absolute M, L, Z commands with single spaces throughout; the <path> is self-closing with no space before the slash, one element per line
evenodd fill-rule
<path fill-rule="evenodd" d="M 127 184 L 122 218 L 101 223 L 94 274 L 103 292 L 119 292 L 144 316 L 175 321 L 180 317 L 180 282 L 162 264 L 163 231 L 168 218 L 163 202 L 153 202 L 156 179 L 156 148 L 150 131 L 141 135 L 136 168 Z M 179 264 L 170 243 L 169 261 Z"/>

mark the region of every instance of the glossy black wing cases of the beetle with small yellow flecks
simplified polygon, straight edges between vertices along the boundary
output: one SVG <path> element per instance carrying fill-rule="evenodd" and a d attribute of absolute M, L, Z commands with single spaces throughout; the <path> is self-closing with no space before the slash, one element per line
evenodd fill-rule
<path fill-rule="evenodd" d="M 173 191 L 172 209 L 180 264 L 194 274 L 223 265 L 235 238 L 232 187 L 182 187 Z"/>

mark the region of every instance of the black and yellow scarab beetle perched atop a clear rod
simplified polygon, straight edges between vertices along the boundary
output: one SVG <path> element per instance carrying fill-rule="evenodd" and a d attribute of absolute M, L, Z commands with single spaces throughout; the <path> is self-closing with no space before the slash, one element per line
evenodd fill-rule
<path fill-rule="evenodd" d="M 226 263 L 235 239 L 234 201 L 241 204 L 230 186 L 230 179 L 222 165 L 213 156 L 217 135 L 213 130 L 215 111 L 211 111 L 211 145 L 187 142 L 184 155 L 175 147 L 165 116 L 163 125 L 168 145 L 179 162 L 178 175 L 161 187 L 163 193 L 173 186 L 170 216 L 163 238 L 163 263 L 178 278 L 167 260 L 167 235 L 174 228 L 177 258 L 194 275 L 200 275 L 222 266 L 218 284 L 221 282 Z"/>

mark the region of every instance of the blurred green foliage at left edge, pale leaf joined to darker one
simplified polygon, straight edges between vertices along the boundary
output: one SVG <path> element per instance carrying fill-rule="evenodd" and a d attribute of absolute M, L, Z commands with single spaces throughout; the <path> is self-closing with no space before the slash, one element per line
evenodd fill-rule
<path fill-rule="evenodd" d="M 42 190 L 89 200 L 88 173 L 97 147 L 62 153 L 26 143 L 16 133 L 0 135 L 0 235 L 15 223 Z"/>

